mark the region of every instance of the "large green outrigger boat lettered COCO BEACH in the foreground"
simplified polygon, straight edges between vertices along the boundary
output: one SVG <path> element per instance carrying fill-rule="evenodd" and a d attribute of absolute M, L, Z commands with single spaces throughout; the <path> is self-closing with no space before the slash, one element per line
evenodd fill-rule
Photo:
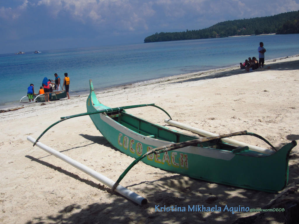
<path fill-rule="evenodd" d="M 66 119 L 89 115 L 96 128 L 114 147 L 136 158 L 116 182 L 106 184 L 113 190 L 118 191 L 121 188 L 120 181 L 139 161 L 192 178 L 241 188 L 277 192 L 286 187 L 289 174 L 289 154 L 297 145 L 296 141 L 277 150 L 262 136 L 247 131 L 203 138 L 185 134 L 153 124 L 125 111 L 130 108 L 154 106 L 164 111 L 171 120 L 170 115 L 155 104 L 118 108 L 110 108 L 101 104 L 94 93 L 92 81 L 89 82 L 90 94 L 86 101 L 87 112 L 61 117 L 61 120 L 48 127 L 36 140 L 28 136 L 28 140 L 34 142 L 33 146 L 40 144 L 39 147 L 44 150 L 49 148 L 38 142 L 46 131 Z M 272 150 L 251 147 L 242 142 L 239 146 L 234 142 L 222 141 L 222 139 L 237 135 L 251 135 L 260 138 L 268 143 Z M 48 150 L 49 153 L 60 158 L 58 153 L 55 154 L 52 151 L 54 150 Z M 63 160 L 73 165 L 68 159 Z M 77 164 L 77 162 L 75 163 Z M 79 167 L 79 169 L 84 171 L 83 168 Z M 84 172 L 87 173 L 87 171 Z"/>

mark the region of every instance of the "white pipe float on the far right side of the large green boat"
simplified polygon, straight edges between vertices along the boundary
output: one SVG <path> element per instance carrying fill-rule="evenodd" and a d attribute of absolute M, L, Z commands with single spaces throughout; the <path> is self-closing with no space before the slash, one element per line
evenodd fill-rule
<path fill-rule="evenodd" d="M 214 134 L 214 133 L 211 133 L 211 132 L 208 132 L 208 131 L 204 131 L 204 130 L 201 130 L 199 128 L 194 128 L 192 126 L 185 125 L 183 123 L 180 123 L 180 122 L 177 122 L 177 121 L 173 121 L 173 120 L 170 120 L 170 119 L 164 119 L 164 122 L 167 123 L 167 124 L 176 126 L 178 128 L 187 130 L 187 131 L 192 131 L 192 132 L 194 132 L 196 134 L 200 134 L 200 135 L 203 135 L 203 136 L 206 136 L 206 137 L 218 136 L 217 134 Z M 260 147 L 254 146 L 254 145 L 246 144 L 244 142 L 238 142 L 238 141 L 236 141 L 234 139 L 223 138 L 222 140 L 224 142 L 230 143 L 232 145 L 238 145 L 238 146 L 242 146 L 242 147 L 243 146 L 248 146 L 251 151 L 256 151 L 256 152 L 260 152 L 260 153 L 264 153 L 264 154 L 269 154 L 269 155 L 271 155 L 271 154 L 274 153 L 274 151 L 272 151 L 270 149 L 260 148 Z"/>

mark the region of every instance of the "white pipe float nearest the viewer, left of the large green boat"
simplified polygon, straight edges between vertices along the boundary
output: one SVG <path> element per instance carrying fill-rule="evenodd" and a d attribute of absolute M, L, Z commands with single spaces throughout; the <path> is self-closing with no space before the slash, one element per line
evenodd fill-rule
<path fill-rule="evenodd" d="M 34 143 L 36 139 L 34 139 L 31 136 L 27 137 L 27 140 L 29 142 Z M 80 162 L 77 162 L 74 159 L 71 159 L 70 157 L 54 150 L 53 148 L 50 148 L 47 145 L 42 144 L 41 142 L 37 142 L 36 145 L 41 148 L 42 150 L 45 150 L 46 152 L 52 154 L 53 156 L 62 159 L 63 161 L 67 162 L 68 164 L 76 167 L 77 169 L 83 171 L 84 173 L 90 175 L 91 177 L 97 179 L 101 183 L 107 185 L 109 188 L 112 188 L 115 182 L 108 177 L 103 176 L 102 174 L 98 173 L 97 171 L 92 170 L 91 168 L 87 167 L 86 165 L 81 164 Z M 134 193 L 133 191 L 130 191 L 129 189 L 118 185 L 115 188 L 115 191 L 119 194 L 123 195 L 124 197 L 132 200 L 133 202 L 137 203 L 138 205 L 145 205 L 147 203 L 147 199 L 139 196 L 138 194 Z"/>

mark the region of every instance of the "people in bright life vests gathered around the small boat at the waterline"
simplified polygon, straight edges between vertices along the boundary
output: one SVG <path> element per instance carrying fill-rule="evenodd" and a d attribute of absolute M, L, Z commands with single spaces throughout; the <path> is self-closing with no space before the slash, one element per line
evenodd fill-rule
<path fill-rule="evenodd" d="M 57 75 L 57 73 L 54 74 L 55 80 L 48 79 L 45 77 L 42 81 L 42 86 L 39 88 L 39 93 L 34 93 L 34 85 L 31 83 L 30 86 L 28 87 L 27 91 L 27 96 L 29 98 L 29 102 L 33 102 L 33 97 L 34 95 L 39 95 L 39 94 L 45 94 L 45 101 L 50 102 L 50 93 L 53 92 L 58 92 L 61 91 L 60 87 L 60 77 Z M 55 81 L 55 82 L 54 82 Z M 64 73 L 64 79 L 63 79 L 63 84 L 62 84 L 62 90 L 65 87 L 65 92 L 66 95 L 68 96 L 68 99 L 70 99 L 68 90 L 69 90 L 69 85 L 70 85 L 70 78 L 68 77 L 68 73 Z"/>

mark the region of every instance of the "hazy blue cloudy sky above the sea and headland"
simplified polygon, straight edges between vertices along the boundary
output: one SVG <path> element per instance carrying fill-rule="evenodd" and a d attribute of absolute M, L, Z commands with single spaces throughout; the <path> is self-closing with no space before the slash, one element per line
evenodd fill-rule
<path fill-rule="evenodd" d="M 299 10 L 299 0 L 0 0 L 0 54 L 143 43 L 156 32 Z"/>

